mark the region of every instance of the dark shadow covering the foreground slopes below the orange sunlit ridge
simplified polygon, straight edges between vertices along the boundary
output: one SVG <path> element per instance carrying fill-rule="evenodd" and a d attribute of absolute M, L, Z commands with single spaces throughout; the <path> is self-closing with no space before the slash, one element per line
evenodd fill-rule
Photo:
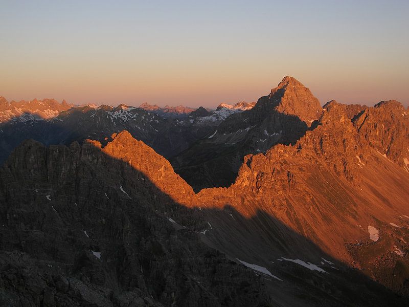
<path fill-rule="evenodd" d="M 0 173 L 2 303 L 404 305 L 274 216 L 180 205 L 148 174 L 89 143 L 45 148 L 27 141 Z M 308 260 L 321 255 L 337 269 L 274 260 L 299 252 Z"/>

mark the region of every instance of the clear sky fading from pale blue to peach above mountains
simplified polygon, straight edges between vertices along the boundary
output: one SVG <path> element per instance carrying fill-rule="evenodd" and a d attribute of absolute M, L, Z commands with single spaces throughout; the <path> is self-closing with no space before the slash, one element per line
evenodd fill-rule
<path fill-rule="evenodd" d="M 409 1 L 1 1 L 0 96 L 257 101 L 292 76 L 322 104 L 409 103 Z"/>

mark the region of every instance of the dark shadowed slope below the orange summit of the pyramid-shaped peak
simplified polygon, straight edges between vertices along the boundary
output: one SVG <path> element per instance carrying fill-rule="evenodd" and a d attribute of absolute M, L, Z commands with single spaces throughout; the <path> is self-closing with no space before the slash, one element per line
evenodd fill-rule
<path fill-rule="evenodd" d="M 215 142 L 217 136 L 197 141 L 187 150 L 172 157 L 170 162 L 175 172 L 185 179 L 195 192 L 203 188 L 229 187 L 237 178 L 244 156 L 265 152 L 276 144 L 293 145 L 306 131 L 314 128 L 308 127 L 297 116 L 263 108 L 260 112 L 264 114 L 264 118 L 256 117 L 251 109 L 225 119 L 217 127 L 220 139 L 223 139 L 224 135 L 236 137 L 235 134 L 245 130 L 243 124 L 252 128 L 247 130 L 242 139 L 234 140 L 233 143 Z M 245 117 L 247 121 L 243 120 Z M 266 129 L 274 133 L 269 135 Z"/>

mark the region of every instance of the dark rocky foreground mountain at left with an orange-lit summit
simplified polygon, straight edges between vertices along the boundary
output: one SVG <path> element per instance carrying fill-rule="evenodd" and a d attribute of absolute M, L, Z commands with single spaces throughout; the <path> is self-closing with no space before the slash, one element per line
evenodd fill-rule
<path fill-rule="evenodd" d="M 206 222 L 177 203 L 194 194 L 170 164 L 112 138 L 27 141 L 0 170 L 1 304 L 270 305 L 262 278 L 200 242 Z"/>

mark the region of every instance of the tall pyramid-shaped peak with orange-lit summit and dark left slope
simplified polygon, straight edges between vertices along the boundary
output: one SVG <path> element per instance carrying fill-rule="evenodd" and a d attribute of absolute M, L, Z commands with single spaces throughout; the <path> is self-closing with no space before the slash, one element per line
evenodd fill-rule
<path fill-rule="evenodd" d="M 225 119 L 207 138 L 171 159 L 177 173 L 198 191 L 234 182 L 248 153 L 293 144 L 305 134 L 322 107 L 303 84 L 284 77 L 268 96 Z"/>

